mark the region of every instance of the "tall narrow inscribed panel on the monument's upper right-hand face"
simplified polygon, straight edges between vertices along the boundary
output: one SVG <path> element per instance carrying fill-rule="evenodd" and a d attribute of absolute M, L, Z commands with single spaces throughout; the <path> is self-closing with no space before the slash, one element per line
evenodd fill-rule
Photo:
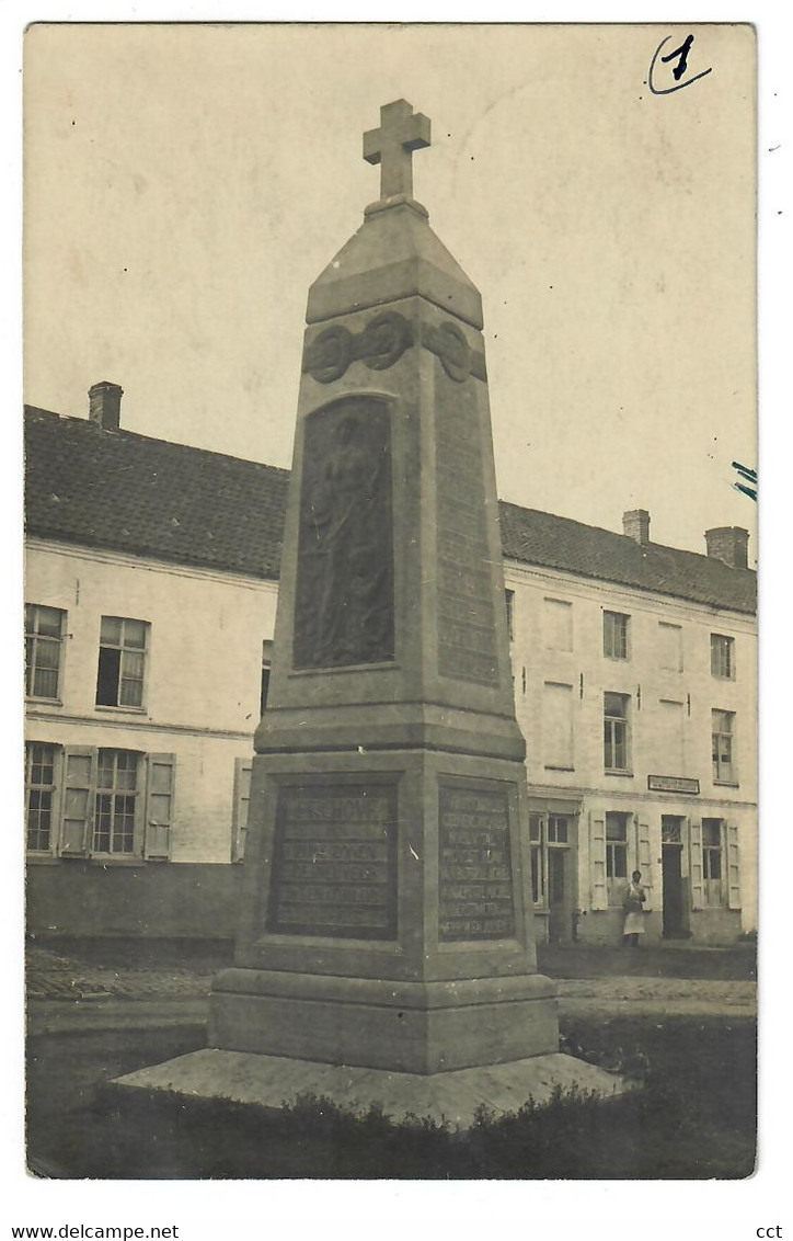
<path fill-rule="evenodd" d="M 480 424 L 461 402 L 435 423 L 437 666 L 442 676 L 498 681 Z"/>

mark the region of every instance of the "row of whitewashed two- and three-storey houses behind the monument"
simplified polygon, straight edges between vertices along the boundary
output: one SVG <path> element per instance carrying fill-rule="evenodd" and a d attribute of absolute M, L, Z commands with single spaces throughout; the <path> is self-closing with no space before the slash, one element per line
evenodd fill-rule
<path fill-rule="evenodd" d="M 289 473 L 26 410 L 28 921 L 33 934 L 230 938 L 266 710 Z M 540 938 L 756 928 L 756 575 L 501 505 Z"/>

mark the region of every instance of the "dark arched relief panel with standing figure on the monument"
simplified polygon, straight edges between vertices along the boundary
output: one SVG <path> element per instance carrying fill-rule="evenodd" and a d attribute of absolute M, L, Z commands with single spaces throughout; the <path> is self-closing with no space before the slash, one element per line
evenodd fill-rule
<path fill-rule="evenodd" d="M 394 658 L 390 416 L 348 397 L 306 418 L 295 668 Z"/>

